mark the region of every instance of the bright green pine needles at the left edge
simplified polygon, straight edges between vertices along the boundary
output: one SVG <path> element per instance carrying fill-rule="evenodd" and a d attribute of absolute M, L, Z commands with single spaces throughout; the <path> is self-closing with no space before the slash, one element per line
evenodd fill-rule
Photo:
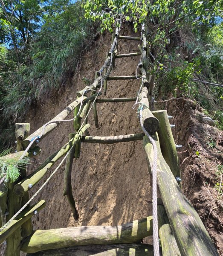
<path fill-rule="evenodd" d="M 0 178 L 6 176 L 6 180 L 14 182 L 20 176 L 20 168 L 29 163 L 28 157 L 18 160 L 15 158 L 6 158 L 5 156 L 11 152 L 11 149 L 4 150 L 0 153 Z"/>

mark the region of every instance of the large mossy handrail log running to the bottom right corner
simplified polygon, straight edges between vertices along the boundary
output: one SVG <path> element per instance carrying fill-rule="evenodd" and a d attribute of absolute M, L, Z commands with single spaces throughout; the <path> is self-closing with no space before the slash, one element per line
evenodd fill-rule
<path fill-rule="evenodd" d="M 152 137 L 158 151 L 157 184 L 181 255 L 217 256 L 217 250 L 199 215 L 181 192 L 171 169 L 162 156 L 157 134 L 153 134 Z M 143 145 L 148 160 L 148 168 L 151 170 L 153 146 L 146 136 L 143 138 Z"/>

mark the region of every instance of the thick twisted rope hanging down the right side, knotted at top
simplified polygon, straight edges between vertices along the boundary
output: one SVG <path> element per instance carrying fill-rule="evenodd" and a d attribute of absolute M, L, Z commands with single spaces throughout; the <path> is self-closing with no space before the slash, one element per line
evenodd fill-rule
<path fill-rule="evenodd" d="M 148 137 L 150 142 L 153 145 L 153 251 L 154 256 L 159 256 L 159 235 L 158 235 L 158 216 L 157 216 L 157 189 L 156 189 L 156 180 L 157 180 L 157 147 L 156 143 L 151 137 L 151 135 L 146 131 L 146 129 L 143 126 L 142 122 L 142 109 L 143 104 L 140 103 L 142 106 L 139 108 L 139 119 L 140 119 L 140 125 L 142 127 L 142 131 L 144 131 L 145 135 Z"/>

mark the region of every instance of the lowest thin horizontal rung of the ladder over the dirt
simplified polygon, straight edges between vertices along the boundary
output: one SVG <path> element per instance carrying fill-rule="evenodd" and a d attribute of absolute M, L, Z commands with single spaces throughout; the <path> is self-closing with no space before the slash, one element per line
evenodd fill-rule
<path fill-rule="evenodd" d="M 145 135 L 144 133 L 141 133 L 141 134 L 110 136 L 110 137 L 83 136 L 81 139 L 81 142 L 113 144 L 113 143 L 119 143 L 119 142 L 142 140 L 144 135 Z"/>

